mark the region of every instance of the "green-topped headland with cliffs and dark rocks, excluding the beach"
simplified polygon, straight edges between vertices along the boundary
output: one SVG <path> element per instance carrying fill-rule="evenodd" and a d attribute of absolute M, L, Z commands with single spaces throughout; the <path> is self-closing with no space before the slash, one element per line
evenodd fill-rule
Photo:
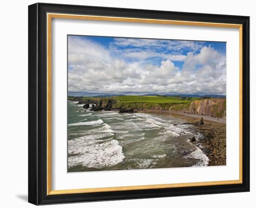
<path fill-rule="evenodd" d="M 226 118 L 226 98 L 168 97 L 168 96 L 112 96 L 68 97 L 70 101 L 91 106 L 91 110 L 159 110 L 176 111 L 192 115 Z"/>

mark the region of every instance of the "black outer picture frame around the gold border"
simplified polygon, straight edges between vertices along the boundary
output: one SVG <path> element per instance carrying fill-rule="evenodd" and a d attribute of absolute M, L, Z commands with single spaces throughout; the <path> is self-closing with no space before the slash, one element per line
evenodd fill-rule
<path fill-rule="evenodd" d="M 47 13 L 243 25 L 243 182 L 240 184 L 47 195 Z M 249 17 L 36 3 L 28 6 L 28 202 L 35 205 L 249 191 Z"/>

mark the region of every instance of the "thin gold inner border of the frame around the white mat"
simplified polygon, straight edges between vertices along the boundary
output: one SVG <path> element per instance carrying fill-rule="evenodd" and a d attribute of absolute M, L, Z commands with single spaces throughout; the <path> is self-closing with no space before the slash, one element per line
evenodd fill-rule
<path fill-rule="evenodd" d="M 166 25 L 185 25 L 185 26 L 212 26 L 212 27 L 228 27 L 239 28 L 239 180 L 230 181 L 214 181 L 214 182 L 187 182 L 187 183 L 171 183 L 171 184 L 156 184 L 156 185 L 141 185 L 141 186 L 122 186 L 122 187 L 106 187 L 106 188 L 88 188 L 88 189 L 63 189 L 52 190 L 52 161 L 51 161 L 51 86 L 52 86 L 52 19 L 77 19 L 77 20 L 99 20 L 99 21 L 117 21 L 117 22 L 137 22 L 151 24 L 166 24 Z M 180 188 L 180 187 L 196 187 L 196 186 L 211 186 L 211 185 L 226 185 L 243 183 L 243 25 L 226 24 L 214 22 L 195 22 L 195 21 L 180 21 L 180 20 L 157 20 L 157 19 L 142 19 L 142 18 L 123 18 L 123 17 L 107 17 L 107 16 L 92 16 L 92 15 L 75 15 L 64 13 L 47 13 L 47 195 L 61 194 L 79 194 L 79 193 L 94 193 L 106 191 L 124 191 L 124 190 L 143 190 L 143 189 L 164 189 L 164 188 Z"/>

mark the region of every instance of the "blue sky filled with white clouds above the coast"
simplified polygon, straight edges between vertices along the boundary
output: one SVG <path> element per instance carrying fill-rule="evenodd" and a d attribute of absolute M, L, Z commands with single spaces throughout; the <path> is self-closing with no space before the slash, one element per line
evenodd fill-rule
<path fill-rule="evenodd" d="M 226 43 L 68 36 L 68 91 L 226 93 Z"/>

